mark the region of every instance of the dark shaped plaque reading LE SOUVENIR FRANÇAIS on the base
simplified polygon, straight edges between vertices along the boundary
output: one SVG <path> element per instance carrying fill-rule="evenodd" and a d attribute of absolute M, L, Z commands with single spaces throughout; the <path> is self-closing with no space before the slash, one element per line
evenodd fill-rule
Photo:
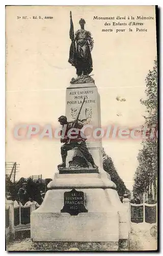
<path fill-rule="evenodd" d="M 76 191 L 73 188 L 64 193 L 64 206 L 61 212 L 68 212 L 70 215 L 78 215 L 79 212 L 88 212 L 84 205 L 84 192 Z"/>

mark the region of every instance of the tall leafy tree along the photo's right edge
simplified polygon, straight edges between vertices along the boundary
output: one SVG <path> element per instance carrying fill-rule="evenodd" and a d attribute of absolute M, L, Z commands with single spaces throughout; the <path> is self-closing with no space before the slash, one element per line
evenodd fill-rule
<path fill-rule="evenodd" d="M 134 175 L 133 192 L 139 195 L 151 193 L 154 187 L 156 199 L 157 180 L 157 61 L 154 61 L 152 71 L 146 77 L 146 99 L 141 103 L 146 106 L 147 115 L 142 130 L 148 129 L 146 138 L 142 141 L 142 150 L 139 151 L 139 166 Z"/>

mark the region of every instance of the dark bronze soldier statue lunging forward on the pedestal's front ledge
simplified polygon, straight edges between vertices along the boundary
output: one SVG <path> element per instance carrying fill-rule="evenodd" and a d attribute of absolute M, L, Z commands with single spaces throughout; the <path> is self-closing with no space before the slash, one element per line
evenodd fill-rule
<path fill-rule="evenodd" d="M 89 153 L 87 145 L 86 145 L 86 137 L 80 131 L 83 128 L 83 124 L 80 123 L 78 120 L 75 120 L 74 122 L 68 122 L 66 116 L 60 116 L 58 121 L 63 126 L 63 131 L 61 133 L 61 143 L 65 143 L 61 146 L 61 156 L 62 156 L 62 163 L 58 165 L 58 167 L 66 167 L 66 157 L 67 157 L 67 151 L 72 150 L 72 148 L 77 147 L 80 152 L 82 152 L 83 156 L 86 158 L 88 162 L 92 164 L 93 168 L 98 168 L 98 166 L 95 164 L 92 155 Z M 70 133 L 68 134 L 68 131 L 70 129 L 74 128 L 77 129 L 78 133 L 75 134 L 75 138 L 72 138 L 73 135 Z M 74 131 L 75 131 L 74 130 Z M 72 132 L 72 131 L 71 131 Z M 77 138 L 76 138 L 77 137 Z"/>

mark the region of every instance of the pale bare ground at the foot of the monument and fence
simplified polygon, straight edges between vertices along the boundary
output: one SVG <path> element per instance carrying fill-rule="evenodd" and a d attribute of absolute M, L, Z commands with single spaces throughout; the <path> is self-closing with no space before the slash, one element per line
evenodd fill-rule
<path fill-rule="evenodd" d="M 129 240 L 130 251 L 157 250 L 156 226 L 148 223 L 131 223 Z M 8 251 L 34 251 L 30 238 L 16 240 L 7 244 Z M 70 248 L 68 250 L 78 250 Z"/>

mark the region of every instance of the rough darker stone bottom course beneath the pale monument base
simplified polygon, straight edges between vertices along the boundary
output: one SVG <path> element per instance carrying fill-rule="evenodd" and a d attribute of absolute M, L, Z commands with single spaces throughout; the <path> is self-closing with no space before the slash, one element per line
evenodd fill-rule
<path fill-rule="evenodd" d="M 118 242 L 33 242 L 37 251 L 117 251 Z"/>

